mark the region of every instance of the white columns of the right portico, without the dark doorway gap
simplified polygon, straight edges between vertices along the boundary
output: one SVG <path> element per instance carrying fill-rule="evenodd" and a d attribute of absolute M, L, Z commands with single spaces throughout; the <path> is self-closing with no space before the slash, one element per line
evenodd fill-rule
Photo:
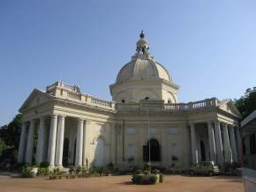
<path fill-rule="evenodd" d="M 190 132 L 192 163 L 196 164 L 200 161 L 196 123 L 190 123 Z M 241 141 L 238 127 L 225 122 L 210 121 L 207 122 L 207 137 L 210 160 L 217 162 L 218 165 L 239 161 Z"/>

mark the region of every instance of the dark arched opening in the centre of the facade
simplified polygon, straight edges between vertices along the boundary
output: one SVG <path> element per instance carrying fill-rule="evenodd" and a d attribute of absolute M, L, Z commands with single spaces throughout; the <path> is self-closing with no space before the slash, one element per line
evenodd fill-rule
<path fill-rule="evenodd" d="M 150 149 L 150 161 L 161 160 L 161 146 L 158 141 L 154 138 L 147 141 L 147 145 L 143 146 L 143 160 L 149 160 L 149 149 Z"/>

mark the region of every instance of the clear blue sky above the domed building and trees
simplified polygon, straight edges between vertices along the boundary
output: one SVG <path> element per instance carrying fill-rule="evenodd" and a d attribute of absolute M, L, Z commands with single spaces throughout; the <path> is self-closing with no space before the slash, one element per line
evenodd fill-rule
<path fill-rule="evenodd" d="M 0 1 L 0 125 L 56 80 L 111 100 L 141 29 L 180 101 L 239 98 L 256 85 L 255 10 L 254 0 Z"/>

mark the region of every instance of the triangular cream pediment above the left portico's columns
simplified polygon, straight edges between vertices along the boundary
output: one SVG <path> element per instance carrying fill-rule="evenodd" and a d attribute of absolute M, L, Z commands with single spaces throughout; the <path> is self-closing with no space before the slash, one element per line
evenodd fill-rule
<path fill-rule="evenodd" d="M 44 103 L 50 100 L 50 97 L 51 96 L 46 92 L 42 92 L 41 90 L 34 89 L 33 92 L 31 92 L 28 98 L 25 100 L 23 105 L 19 108 L 19 112 L 22 113 L 24 110 L 30 107 L 41 105 L 41 103 Z"/>

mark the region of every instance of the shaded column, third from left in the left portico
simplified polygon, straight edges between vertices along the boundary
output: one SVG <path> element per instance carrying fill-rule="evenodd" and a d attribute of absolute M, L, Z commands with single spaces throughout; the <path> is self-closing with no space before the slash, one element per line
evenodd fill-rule
<path fill-rule="evenodd" d="M 44 140 L 45 140 L 45 119 L 41 116 L 40 125 L 38 129 L 38 141 L 36 148 L 36 162 L 40 164 L 43 159 L 43 151 L 44 151 Z"/>

